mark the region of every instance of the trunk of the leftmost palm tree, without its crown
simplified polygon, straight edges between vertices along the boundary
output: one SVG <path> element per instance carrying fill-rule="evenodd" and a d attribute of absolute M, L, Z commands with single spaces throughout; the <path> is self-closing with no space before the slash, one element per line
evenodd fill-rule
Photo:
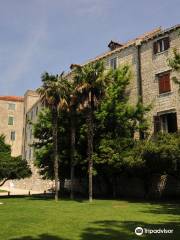
<path fill-rule="evenodd" d="M 53 111 L 53 151 L 54 151 L 54 179 L 55 179 L 55 200 L 58 201 L 59 192 L 59 156 L 58 156 L 58 113 Z"/>

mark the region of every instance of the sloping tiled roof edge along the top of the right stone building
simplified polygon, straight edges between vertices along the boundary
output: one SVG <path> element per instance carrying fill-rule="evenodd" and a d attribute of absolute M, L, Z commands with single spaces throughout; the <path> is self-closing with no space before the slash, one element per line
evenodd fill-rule
<path fill-rule="evenodd" d="M 167 33 L 171 32 L 171 31 L 174 31 L 174 30 L 176 30 L 178 28 L 180 28 L 180 24 L 177 24 L 177 25 L 175 25 L 175 26 L 173 26 L 171 28 L 165 29 L 165 30 L 162 30 L 161 27 L 155 28 L 155 29 L 153 29 L 150 32 L 146 32 L 143 35 L 140 35 L 140 36 L 136 37 L 135 39 L 130 40 L 130 41 L 122 44 L 121 46 L 115 48 L 112 51 L 107 51 L 107 52 L 105 52 L 105 53 L 103 53 L 103 54 L 101 54 L 101 55 L 99 55 L 99 56 L 97 56 L 97 57 L 95 57 L 93 59 L 88 60 L 84 64 L 81 64 L 81 66 L 84 66 L 84 65 L 86 65 L 88 63 L 93 63 L 93 62 L 98 61 L 98 60 L 102 60 L 105 57 L 111 56 L 114 53 L 118 53 L 118 52 L 120 52 L 121 50 L 123 50 L 125 48 L 128 48 L 128 47 L 133 46 L 133 45 L 135 46 L 137 43 L 140 43 L 140 42 L 141 43 L 147 42 L 147 41 L 152 40 L 152 39 L 154 39 L 156 37 L 163 36 L 164 34 L 167 34 Z"/>

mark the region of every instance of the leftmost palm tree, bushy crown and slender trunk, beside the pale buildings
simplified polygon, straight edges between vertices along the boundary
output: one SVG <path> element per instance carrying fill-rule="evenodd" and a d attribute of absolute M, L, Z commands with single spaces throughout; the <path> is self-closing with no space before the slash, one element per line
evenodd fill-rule
<path fill-rule="evenodd" d="M 59 146 L 58 146 L 58 118 L 60 110 L 67 106 L 68 81 L 61 75 L 42 75 L 42 86 L 37 90 L 41 102 L 50 109 L 52 114 L 52 140 L 54 152 L 54 179 L 55 179 L 55 200 L 58 200 L 59 191 Z"/>

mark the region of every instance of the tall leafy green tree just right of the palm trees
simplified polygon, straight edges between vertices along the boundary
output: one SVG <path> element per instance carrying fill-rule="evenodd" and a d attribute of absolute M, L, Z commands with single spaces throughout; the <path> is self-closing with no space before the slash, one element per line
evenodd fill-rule
<path fill-rule="evenodd" d="M 116 178 L 127 164 L 131 164 L 125 159 L 135 144 L 135 134 L 138 134 L 139 130 L 148 134 L 145 114 L 150 106 L 144 107 L 140 101 L 134 105 L 129 103 L 128 86 L 131 81 L 129 66 L 111 71 L 110 78 L 106 95 L 96 111 L 98 127 L 95 135 L 94 161 L 98 174 L 106 175 L 111 181 L 111 186 L 115 186 Z M 116 195 L 115 190 L 113 194 Z"/>

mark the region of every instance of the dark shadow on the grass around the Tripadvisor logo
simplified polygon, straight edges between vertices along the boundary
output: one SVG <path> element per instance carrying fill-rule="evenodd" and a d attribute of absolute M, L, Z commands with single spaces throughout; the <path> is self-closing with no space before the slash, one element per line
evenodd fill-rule
<path fill-rule="evenodd" d="M 138 240 L 138 239 L 165 239 L 179 240 L 180 239 L 180 224 L 169 222 L 166 224 L 147 224 L 138 221 L 96 221 L 92 223 L 94 226 L 84 230 L 81 235 L 81 240 Z M 166 234 L 143 234 L 137 236 L 135 228 L 142 227 L 143 229 L 172 229 L 173 233 Z"/>

